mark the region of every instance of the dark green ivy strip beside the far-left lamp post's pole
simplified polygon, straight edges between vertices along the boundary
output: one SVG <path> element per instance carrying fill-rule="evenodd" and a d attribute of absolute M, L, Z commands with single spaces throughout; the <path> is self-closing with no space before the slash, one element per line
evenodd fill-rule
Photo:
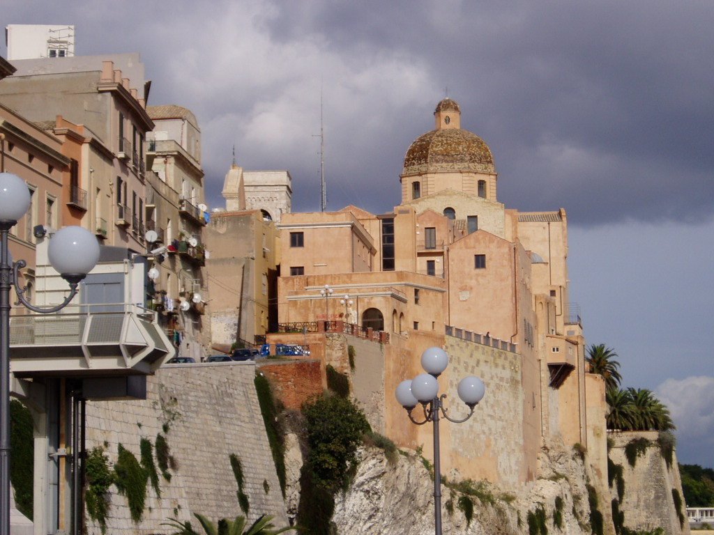
<path fill-rule="evenodd" d="M 32 414 L 17 399 L 10 400 L 10 481 L 18 511 L 32 518 L 34 438 Z"/>

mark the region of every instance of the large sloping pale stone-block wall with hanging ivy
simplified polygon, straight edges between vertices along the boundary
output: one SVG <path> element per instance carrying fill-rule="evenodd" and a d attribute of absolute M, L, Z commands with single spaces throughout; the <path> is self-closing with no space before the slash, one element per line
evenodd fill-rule
<path fill-rule="evenodd" d="M 169 469 L 170 482 L 159 475 L 161 496 L 147 485 L 139 524 L 131 520 L 126 497 L 111 487 L 108 533 L 168 534 L 171 530 L 160 524 L 169 517 L 191 519 L 196 525 L 192 512 L 213 521 L 242 514 L 231 454 L 243 467 L 248 519 L 273 514 L 276 525 L 287 525 L 254 377 L 252 362 L 174 365 L 148 378 L 145 400 L 87 402 L 87 448 L 104 447 L 111 464 L 116 462 L 119 444 L 141 459 L 141 439 L 155 444 L 159 433 L 176 460 L 176 469 Z M 99 534 L 99 526 L 87 521 L 88 532 Z"/>

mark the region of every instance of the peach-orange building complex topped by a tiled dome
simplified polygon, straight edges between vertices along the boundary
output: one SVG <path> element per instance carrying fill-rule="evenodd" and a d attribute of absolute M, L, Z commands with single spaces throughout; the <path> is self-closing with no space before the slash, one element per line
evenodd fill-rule
<path fill-rule="evenodd" d="M 461 432 L 446 432 L 453 447 L 444 466 L 464 477 L 526 481 L 544 437 L 570 446 L 604 440 L 588 429 L 588 404 L 599 407 L 604 399 L 600 389 L 585 388 L 582 327 L 568 303 L 567 217 L 562 209 L 507 209 L 498 200 L 491 149 L 461 128 L 458 103 L 445 98 L 434 118 L 435 128 L 406 151 L 401 204 L 393 212 L 349 206 L 283 215 L 279 322 L 286 330 L 354 322 L 386 332 L 381 340 L 388 339 L 392 357 L 385 357 L 382 419 L 386 433 L 409 447 L 428 444 L 429 433 L 404 424 L 391 392 L 418 373 L 428 345 L 446 347 L 455 367 L 481 372 L 497 388 L 506 380 L 495 371 L 498 362 L 509 362 L 513 377 L 503 389 L 513 395 L 494 399 L 506 407 L 516 396 L 508 411 L 517 421 L 481 449 L 467 447 Z M 521 462 L 505 470 L 496 451 L 513 447 Z"/>

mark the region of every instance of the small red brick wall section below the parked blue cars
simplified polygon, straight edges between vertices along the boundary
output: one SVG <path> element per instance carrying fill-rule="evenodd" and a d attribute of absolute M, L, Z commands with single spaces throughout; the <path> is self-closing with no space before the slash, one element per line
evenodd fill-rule
<path fill-rule="evenodd" d="M 266 360 L 258 369 L 268 377 L 273 394 L 287 409 L 300 410 L 304 402 L 323 391 L 319 360 Z"/>

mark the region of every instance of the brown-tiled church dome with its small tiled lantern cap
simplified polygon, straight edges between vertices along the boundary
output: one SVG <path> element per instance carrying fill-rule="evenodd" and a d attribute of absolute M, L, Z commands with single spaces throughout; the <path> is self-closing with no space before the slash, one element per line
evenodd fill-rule
<path fill-rule="evenodd" d="M 451 99 L 437 106 L 456 106 Z M 455 111 L 456 111 L 455 110 Z M 434 171 L 473 171 L 496 173 L 491 149 L 483 139 L 461 128 L 438 128 L 416 138 L 404 157 L 403 175 L 417 175 Z"/>

